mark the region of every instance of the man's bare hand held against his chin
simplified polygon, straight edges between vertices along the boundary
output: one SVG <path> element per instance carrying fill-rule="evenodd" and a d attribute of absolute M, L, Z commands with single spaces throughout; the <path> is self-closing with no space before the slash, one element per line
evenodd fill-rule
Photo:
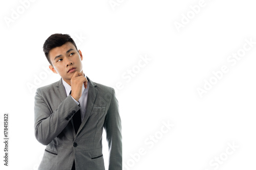
<path fill-rule="evenodd" d="M 87 79 L 83 76 L 81 72 L 74 72 L 71 80 L 71 96 L 78 101 L 82 95 L 82 86 L 87 88 Z"/>

